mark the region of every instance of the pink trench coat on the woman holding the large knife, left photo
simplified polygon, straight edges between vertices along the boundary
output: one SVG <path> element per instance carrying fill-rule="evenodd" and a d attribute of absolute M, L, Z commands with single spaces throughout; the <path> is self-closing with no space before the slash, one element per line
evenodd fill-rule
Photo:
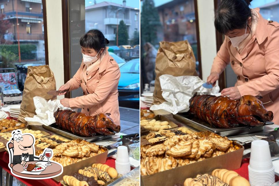
<path fill-rule="evenodd" d="M 81 87 L 83 96 L 69 99 L 70 107 L 82 108 L 81 112 L 91 116 L 110 113 L 114 123 L 120 125 L 117 89 L 120 70 L 108 52 L 102 58 L 97 72 L 90 77 L 91 74 L 86 75 L 86 65 L 82 62 L 78 72 L 68 82 L 70 83 L 69 91 Z"/>

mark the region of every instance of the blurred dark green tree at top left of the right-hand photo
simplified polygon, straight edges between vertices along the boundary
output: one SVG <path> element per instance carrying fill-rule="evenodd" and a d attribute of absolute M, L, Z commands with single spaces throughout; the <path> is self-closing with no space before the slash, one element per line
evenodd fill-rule
<path fill-rule="evenodd" d="M 161 22 L 154 1 L 144 0 L 140 19 L 141 39 L 144 43 L 157 44 L 158 26 L 161 26 Z"/>

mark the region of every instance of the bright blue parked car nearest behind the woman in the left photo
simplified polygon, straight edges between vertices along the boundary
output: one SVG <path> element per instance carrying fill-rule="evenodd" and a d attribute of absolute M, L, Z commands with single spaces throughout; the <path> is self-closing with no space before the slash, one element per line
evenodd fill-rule
<path fill-rule="evenodd" d="M 139 102 L 139 58 L 120 67 L 118 84 L 119 101 Z"/>

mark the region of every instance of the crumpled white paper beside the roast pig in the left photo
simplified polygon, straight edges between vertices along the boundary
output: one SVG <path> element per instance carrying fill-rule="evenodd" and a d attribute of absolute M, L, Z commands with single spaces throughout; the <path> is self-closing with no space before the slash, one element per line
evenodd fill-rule
<path fill-rule="evenodd" d="M 35 96 L 33 97 L 33 101 L 37 115 L 33 118 L 24 118 L 29 125 L 51 125 L 52 123 L 55 123 L 53 114 L 58 108 L 62 110 L 71 110 L 71 108 L 64 107 L 58 99 L 53 101 L 50 99 L 47 102 L 46 99 Z"/>

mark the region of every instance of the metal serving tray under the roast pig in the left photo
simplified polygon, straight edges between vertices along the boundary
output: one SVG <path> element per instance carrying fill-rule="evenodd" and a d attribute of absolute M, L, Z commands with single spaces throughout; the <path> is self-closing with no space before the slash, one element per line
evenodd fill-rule
<path fill-rule="evenodd" d="M 52 124 L 52 125 L 49 125 L 49 126 L 46 126 L 46 125 L 43 125 L 43 128 L 49 130 L 49 131 L 52 131 L 56 134 L 59 134 L 61 136 L 64 136 L 66 138 L 69 138 L 69 139 L 82 139 L 82 140 L 85 140 L 85 141 L 88 141 L 88 142 L 94 142 L 94 141 L 98 141 L 98 140 L 102 140 L 102 139 L 107 139 L 107 138 L 111 138 L 112 136 L 103 136 L 103 135 L 97 135 L 97 136 L 90 136 L 90 137 L 84 137 L 84 136 L 77 136 L 75 134 L 72 134 L 68 131 L 63 131 L 62 129 L 59 129 L 59 128 L 56 128 L 54 127 L 55 124 Z"/>

